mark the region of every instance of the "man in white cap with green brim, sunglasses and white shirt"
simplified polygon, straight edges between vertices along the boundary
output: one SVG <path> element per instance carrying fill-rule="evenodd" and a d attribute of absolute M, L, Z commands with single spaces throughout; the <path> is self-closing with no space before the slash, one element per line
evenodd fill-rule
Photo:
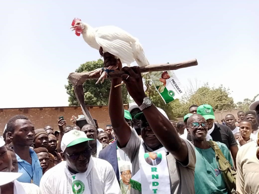
<path fill-rule="evenodd" d="M 61 141 L 64 162 L 47 171 L 41 181 L 42 193 L 48 194 L 117 194 L 120 187 L 112 166 L 93 158 L 89 141 L 82 131 L 71 130 Z"/>

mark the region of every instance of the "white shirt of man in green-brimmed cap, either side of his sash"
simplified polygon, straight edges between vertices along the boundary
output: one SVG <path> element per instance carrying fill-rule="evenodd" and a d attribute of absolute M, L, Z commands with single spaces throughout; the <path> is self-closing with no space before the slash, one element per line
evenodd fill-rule
<path fill-rule="evenodd" d="M 90 172 L 93 194 L 120 194 L 120 186 L 110 163 L 94 157 L 92 160 L 93 168 Z M 40 180 L 42 194 L 67 194 L 67 177 L 64 168 L 67 168 L 65 161 L 49 169 L 42 176 Z"/>

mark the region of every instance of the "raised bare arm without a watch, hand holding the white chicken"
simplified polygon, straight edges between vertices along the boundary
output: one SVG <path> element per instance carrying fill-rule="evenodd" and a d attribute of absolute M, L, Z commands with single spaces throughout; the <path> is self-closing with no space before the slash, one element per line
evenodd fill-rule
<path fill-rule="evenodd" d="M 100 53 L 101 54 L 101 53 Z M 104 53 L 104 66 L 118 64 L 119 69 L 122 68 L 120 60 L 114 58 L 110 53 Z M 124 119 L 124 107 L 121 94 L 121 86 L 114 88 L 114 86 L 121 83 L 121 78 L 115 78 L 111 81 L 111 90 L 109 97 L 109 115 L 113 131 L 116 135 L 120 147 L 125 147 L 129 141 L 131 130 L 129 125 Z"/>

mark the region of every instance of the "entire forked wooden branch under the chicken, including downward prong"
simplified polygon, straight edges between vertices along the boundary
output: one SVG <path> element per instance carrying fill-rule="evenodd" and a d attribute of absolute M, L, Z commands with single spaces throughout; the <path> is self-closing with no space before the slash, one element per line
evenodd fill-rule
<path fill-rule="evenodd" d="M 198 62 L 196 59 L 190 60 L 190 61 L 184 61 L 180 63 L 165 63 L 165 64 L 155 64 L 155 65 L 147 65 L 145 67 L 140 67 L 141 73 L 144 72 L 151 72 L 151 71 L 169 71 L 169 70 L 178 70 L 185 67 L 192 67 L 198 65 Z M 107 79 L 112 78 L 119 78 L 122 74 L 124 74 L 124 71 L 115 71 L 108 73 Z M 85 108 L 85 94 L 83 89 L 83 83 L 85 83 L 88 79 L 99 79 L 100 75 L 96 74 L 93 76 L 89 76 L 88 72 L 85 73 L 70 73 L 68 76 L 68 80 L 73 84 L 74 91 L 77 97 L 77 101 L 79 102 L 82 112 L 85 116 L 86 121 L 95 126 L 95 122 L 93 121 L 93 118 L 88 111 L 87 108 Z"/>

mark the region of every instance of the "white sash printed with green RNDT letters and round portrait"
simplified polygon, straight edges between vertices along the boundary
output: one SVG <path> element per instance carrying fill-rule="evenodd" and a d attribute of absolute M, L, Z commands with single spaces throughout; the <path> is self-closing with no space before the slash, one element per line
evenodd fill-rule
<path fill-rule="evenodd" d="M 139 148 L 138 160 L 140 170 L 132 177 L 133 180 L 141 183 L 142 194 L 150 193 L 171 193 L 170 177 L 164 147 L 153 151 L 157 153 L 156 165 L 145 153 L 143 142 Z M 146 159 L 145 159 L 146 158 Z M 146 161 L 147 160 L 147 161 Z"/>

